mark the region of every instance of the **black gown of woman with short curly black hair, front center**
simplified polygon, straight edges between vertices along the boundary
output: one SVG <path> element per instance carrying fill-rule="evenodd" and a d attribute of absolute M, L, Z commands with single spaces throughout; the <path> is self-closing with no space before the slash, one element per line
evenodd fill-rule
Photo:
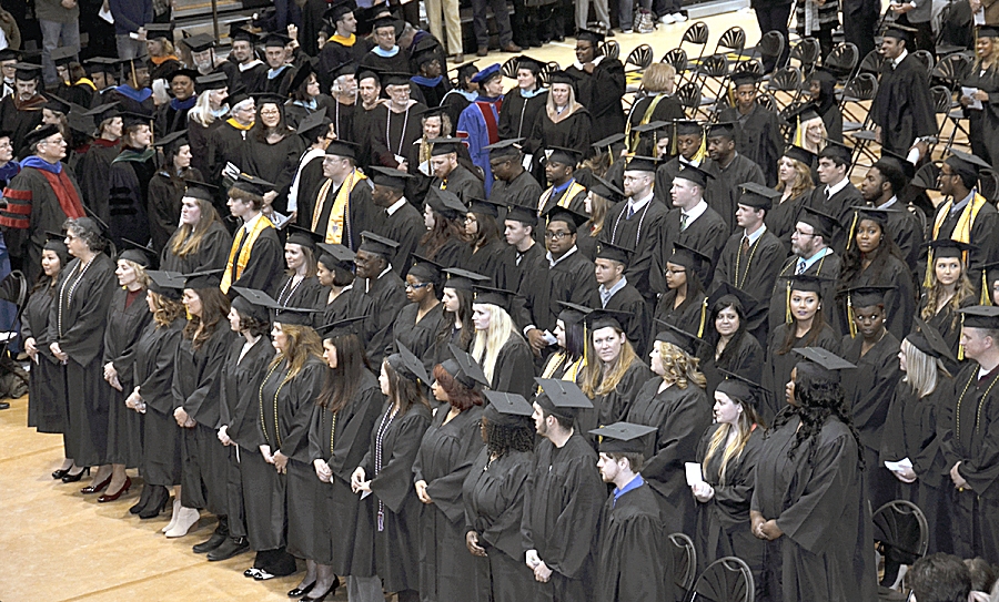
<path fill-rule="evenodd" d="M 539 595 L 534 572 L 524 562 L 521 534 L 533 465 L 534 455 L 528 451 L 508 451 L 490 461 L 490 451 L 483 449 L 462 484 L 465 532 L 478 533 L 478 544 L 488 554 L 491 595 L 476 602 L 523 602 Z"/>

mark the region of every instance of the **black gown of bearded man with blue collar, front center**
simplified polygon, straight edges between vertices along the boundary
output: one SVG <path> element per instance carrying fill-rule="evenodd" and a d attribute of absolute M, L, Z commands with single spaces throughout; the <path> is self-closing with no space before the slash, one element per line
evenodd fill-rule
<path fill-rule="evenodd" d="M 672 543 L 659 512 L 658 496 L 648 483 L 612 496 L 601 513 L 597 580 L 594 600 L 672 600 Z"/>

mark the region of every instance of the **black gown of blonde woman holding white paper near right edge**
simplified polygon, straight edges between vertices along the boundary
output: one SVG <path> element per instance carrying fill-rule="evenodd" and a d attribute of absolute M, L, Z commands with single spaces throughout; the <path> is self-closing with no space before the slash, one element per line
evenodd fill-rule
<path fill-rule="evenodd" d="M 953 549 L 950 512 L 947 511 L 953 483 L 947 475 L 950 467 L 945 466 L 937 436 L 944 418 L 941 406 L 953 385 L 940 373 L 937 379 L 937 388 L 926 397 L 917 397 L 908 382 L 899 380 L 896 384 L 878 457 L 878 468 L 904 458 L 912 462 L 916 482 L 904 483 L 896 479 L 898 497 L 911 501 L 926 514 L 929 526 L 927 551 L 931 554 L 950 553 Z"/>

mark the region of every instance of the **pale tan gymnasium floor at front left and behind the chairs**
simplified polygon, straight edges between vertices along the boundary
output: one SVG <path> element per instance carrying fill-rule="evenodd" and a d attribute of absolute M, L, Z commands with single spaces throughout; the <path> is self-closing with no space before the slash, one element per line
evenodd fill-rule
<path fill-rule="evenodd" d="M 749 11 L 705 21 L 712 32 L 709 50 L 733 25 L 746 30 L 747 45 L 759 39 Z M 658 60 L 678 45 L 686 28 L 659 25 L 652 34 L 618 34 L 615 40 L 622 58 L 634 47 L 649 43 Z M 574 40 L 567 40 L 529 54 L 565 67 L 574 60 L 573 48 Z M 508 58 L 493 52 L 478 64 Z M 855 172 L 855 182 L 858 177 Z M 132 491 L 109 504 L 80 493 L 87 479 L 73 484 L 53 481 L 49 473 L 61 463 L 62 439 L 27 428 L 27 397 L 17 399 L 11 409 L 0 411 L 0 601 L 289 600 L 285 592 L 301 574 L 254 582 L 242 575 L 251 554 L 208 562 L 191 551 L 191 545 L 211 533 L 213 519 L 203 518 L 188 537 L 167 540 L 160 529 L 168 513 L 147 521 L 129 514 L 139 491 L 134 475 Z M 344 590 L 340 592 L 329 600 L 346 600 Z"/>

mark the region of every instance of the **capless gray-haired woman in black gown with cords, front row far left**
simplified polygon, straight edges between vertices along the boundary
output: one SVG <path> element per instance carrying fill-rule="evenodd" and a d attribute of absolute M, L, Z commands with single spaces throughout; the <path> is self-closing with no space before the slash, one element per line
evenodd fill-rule
<path fill-rule="evenodd" d="M 59 361 L 53 378 L 56 402 L 67 417 L 63 442 L 73 466 L 63 482 L 79 481 L 85 467 L 99 466 L 108 445 L 107 386 L 101 369 L 108 305 L 114 292 L 114 262 L 103 253 L 105 239 L 90 217 L 65 222 L 65 246 L 74 257 L 59 274 L 49 307 L 44 340 Z M 108 487 L 111 470 L 94 478 L 87 492 Z"/>

